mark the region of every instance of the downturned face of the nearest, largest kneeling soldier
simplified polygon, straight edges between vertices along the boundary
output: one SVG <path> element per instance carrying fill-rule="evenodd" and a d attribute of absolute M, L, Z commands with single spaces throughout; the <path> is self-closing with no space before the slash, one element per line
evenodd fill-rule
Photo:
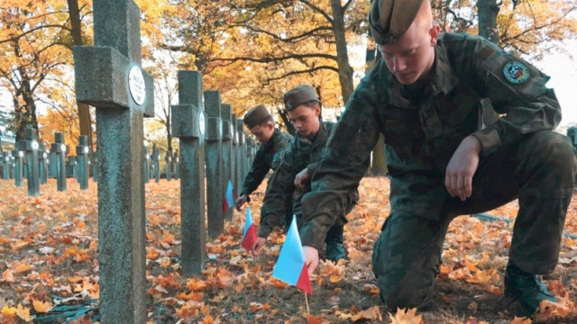
<path fill-rule="evenodd" d="M 394 44 L 378 45 L 389 71 L 401 85 L 411 85 L 428 75 L 435 61 L 439 31 L 436 25 L 428 28 L 416 21 Z"/>

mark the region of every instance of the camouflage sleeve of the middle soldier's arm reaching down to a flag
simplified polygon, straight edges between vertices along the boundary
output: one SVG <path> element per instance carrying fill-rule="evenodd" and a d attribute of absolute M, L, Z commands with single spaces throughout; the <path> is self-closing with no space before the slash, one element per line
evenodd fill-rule
<path fill-rule="evenodd" d="M 267 192 L 261 206 L 261 227 L 259 237 L 267 238 L 282 219 L 292 203 L 295 191 L 295 172 L 293 168 L 293 150 L 287 148 L 280 159 L 279 168 L 270 176 Z"/>

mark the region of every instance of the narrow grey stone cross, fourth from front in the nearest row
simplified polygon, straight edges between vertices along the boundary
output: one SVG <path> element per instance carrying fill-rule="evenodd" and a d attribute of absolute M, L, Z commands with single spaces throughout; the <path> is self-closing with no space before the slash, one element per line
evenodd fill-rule
<path fill-rule="evenodd" d="M 229 181 L 234 181 L 234 155 L 233 155 L 233 141 L 234 141 L 234 127 L 231 123 L 231 105 L 228 103 L 221 104 L 221 117 L 223 119 L 223 195 L 226 192 L 226 187 Z M 233 182 L 234 184 L 234 182 Z M 224 198 L 223 198 L 224 199 Z M 233 210 L 230 208 L 224 211 L 224 219 L 233 220 Z"/>

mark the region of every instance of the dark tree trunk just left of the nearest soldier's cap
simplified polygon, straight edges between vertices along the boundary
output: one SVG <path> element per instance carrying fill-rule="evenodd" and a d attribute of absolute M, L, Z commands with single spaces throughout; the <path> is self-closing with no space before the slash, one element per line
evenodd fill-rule
<path fill-rule="evenodd" d="M 344 36 L 344 12 L 340 0 L 331 0 L 333 8 L 333 31 L 336 42 L 336 64 L 339 68 L 339 82 L 343 103 L 349 100 L 353 94 L 353 67 L 349 64 L 349 54 L 346 49 L 346 38 Z"/>

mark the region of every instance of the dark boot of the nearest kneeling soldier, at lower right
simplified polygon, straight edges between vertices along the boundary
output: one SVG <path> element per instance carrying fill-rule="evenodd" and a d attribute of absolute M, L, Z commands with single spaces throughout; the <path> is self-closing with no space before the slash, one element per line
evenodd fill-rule
<path fill-rule="evenodd" d="M 529 314 L 533 314 L 541 301 L 556 302 L 539 275 L 531 275 L 517 266 L 508 265 L 505 273 L 505 296 L 514 298 Z"/>

